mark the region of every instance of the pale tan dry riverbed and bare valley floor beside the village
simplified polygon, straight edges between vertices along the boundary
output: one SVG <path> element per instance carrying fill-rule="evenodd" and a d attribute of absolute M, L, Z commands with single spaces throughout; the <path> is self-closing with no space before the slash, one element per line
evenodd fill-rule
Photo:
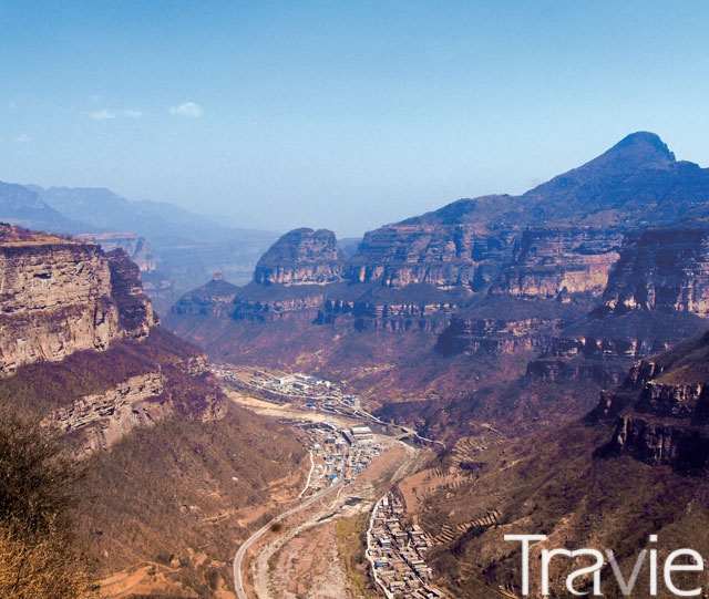
<path fill-rule="evenodd" d="M 240 393 L 229 392 L 229 397 L 281 422 L 327 421 L 338 427 L 356 424 L 350 419 L 304 411 Z M 337 488 L 331 488 L 306 509 L 269 523 L 269 529 L 248 550 L 250 560 L 247 556 L 242 569 L 244 595 L 239 597 L 346 599 L 383 596 L 367 575 L 367 521 L 379 498 L 421 468 L 431 453 L 383 435 L 376 435 L 374 443 L 381 447 L 377 452 L 379 455 L 347 484 L 336 482 L 333 487 Z"/>

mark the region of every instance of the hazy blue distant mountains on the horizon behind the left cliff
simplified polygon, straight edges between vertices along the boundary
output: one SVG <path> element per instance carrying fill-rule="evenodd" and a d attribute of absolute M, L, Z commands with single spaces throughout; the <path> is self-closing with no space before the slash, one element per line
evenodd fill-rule
<path fill-rule="evenodd" d="M 104 188 L 43 189 L 0 183 L 0 221 L 83 234 L 111 248 L 119 244 L 141 265 L 147 262 L 134 250 L 150 247 L 151 267 L 142 277 L 162 313 L 215 272 L 236 283 L 248 282 L 257 260 L 277 238 L 267 231 L 226 227 L 173 204 L 132 202 Z"/>

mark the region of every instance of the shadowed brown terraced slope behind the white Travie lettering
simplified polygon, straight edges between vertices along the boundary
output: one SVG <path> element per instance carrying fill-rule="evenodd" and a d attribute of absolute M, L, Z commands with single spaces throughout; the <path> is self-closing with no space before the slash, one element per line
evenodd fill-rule
<path fill-rule="evenodd" d="M 500 589 L 518 596 L 522 547 L 505 535 L 545 537 L 530 550 L 533 597 L 541 592 L 542 549 L 612 549 L 625 580 L 643 549 L 656 549 L 659 564 L 679 548 L 706 555 L 709 544 L 696 533 L 709 524 L 708 357 L 709 337 L 681 343 L 638 362 L 584 421 L 515 442 L 479 427 L 403 483 L 411 516 L 436 538 L 439 581 L 461 598 Z M 604 596 L 623 597 L 605 558 Z M 552 596 L 567 596 L 566 577 L 578 567 L 552 561 Z M 649 596 L 650 579 L 646 559 L 631 596 Z M 664 580 L 653 595 L 677 597 Z M 706 591 L 703 574 L 674 581 Z M 590 577 L 575 588 L 593 592 Z"/>

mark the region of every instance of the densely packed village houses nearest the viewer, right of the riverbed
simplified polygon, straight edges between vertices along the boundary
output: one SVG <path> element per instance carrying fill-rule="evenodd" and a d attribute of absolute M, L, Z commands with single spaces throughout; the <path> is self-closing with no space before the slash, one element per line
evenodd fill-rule
<path fill-rule="evenodd" d="M 393 494 L 384 495 L 372 512 L 367 533 L 367 557 L 377 583 L 389 599 L 442 599 L 430 583 L 431 567 L 424 557 L 433 541 L 418 525 L 402 524 L 404 509 Z"/>

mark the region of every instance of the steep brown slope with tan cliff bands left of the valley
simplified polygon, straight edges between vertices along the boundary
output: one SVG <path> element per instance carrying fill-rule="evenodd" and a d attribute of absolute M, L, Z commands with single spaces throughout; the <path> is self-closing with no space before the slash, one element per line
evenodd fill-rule
<path fill-rule="evenodd" d="M 0 402 L 83 464 L 75 533 L 96 575 L 229 597 L 234 546 L 270 492 L 299 484 L 300 444 L 226 400 L 206 357 L 155 322 L 121 250 L 3 226 L 0 254 Z"/>

